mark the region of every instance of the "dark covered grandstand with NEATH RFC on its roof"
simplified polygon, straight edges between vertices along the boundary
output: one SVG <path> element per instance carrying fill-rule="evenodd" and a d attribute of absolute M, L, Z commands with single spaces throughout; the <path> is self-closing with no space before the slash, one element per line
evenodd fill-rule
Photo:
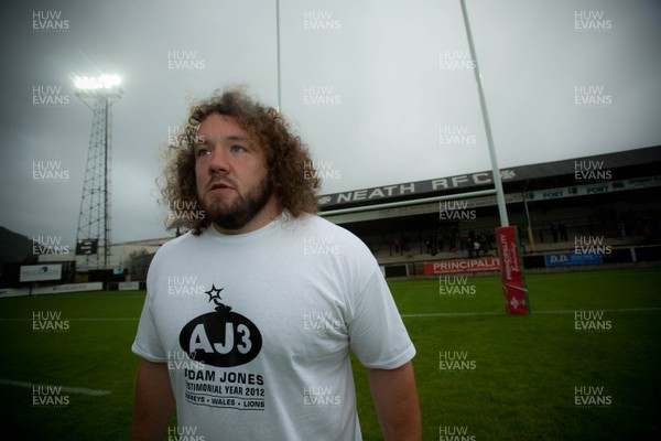
<path fill-rule="evenodd" d="M 631 249 L 641 246 L 636 260 L 661 260 L 653 247 L 660 241 L 659 170 L 661 146 L 502 169 L 508 214 L 520 228 L 525 267 L 539 267 L 543 254 L 574 249 L 585 236 L 626 249 L 615 252 L 619 262 L 631 261 Z M 424 261 L 469 257 L 470 232 L 492 234 L 499 225 L 496 196 L 460 198 L 462 192 L 490 186 L 491 173 L 484 171 L 327 194 L 319 197 L 319 208 L 359 236 L 381 265 L 407 265 L 409 273 L 420 275 Z M 452 194 L 459 198 L 379 208 Z M 346 213 L 358 206 L 366 211 Z M 646 227 L 652 232 L 648 238 Z"/>

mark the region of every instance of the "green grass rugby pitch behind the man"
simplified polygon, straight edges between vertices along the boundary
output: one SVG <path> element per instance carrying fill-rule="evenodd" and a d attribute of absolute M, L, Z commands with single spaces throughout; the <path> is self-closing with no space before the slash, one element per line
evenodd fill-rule
<path fill-rule="evenodd" d="M 390 283 L 418 348 L 424 440 L 661 439 L 661 269 L 528 275 L 524 316 L 505 314 L 498 278 L 454 281 L 462 295 L 442 294 L 438 279 Z M 143 299 L 1 299 L 3 433 L 128 439 Z M 35 312 L 61 313 L 68 330 L 34 331 Z M 365 373 L 355 373 L 364 437 L 379 440 Z M 34 406 L 32 385 L 99 395 L 50 389 L 58 402 Z"/>

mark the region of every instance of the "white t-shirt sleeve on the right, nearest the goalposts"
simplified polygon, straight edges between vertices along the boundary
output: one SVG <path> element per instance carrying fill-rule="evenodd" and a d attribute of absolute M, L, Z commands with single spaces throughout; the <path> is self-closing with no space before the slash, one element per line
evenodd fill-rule
<path fill-rule="evenodd" d="M 348 323 L 351 351 L 366 367 L 394 369 L 415 355 L 415 347 L 378 267 L 356 293 L 351 315 Z"/>

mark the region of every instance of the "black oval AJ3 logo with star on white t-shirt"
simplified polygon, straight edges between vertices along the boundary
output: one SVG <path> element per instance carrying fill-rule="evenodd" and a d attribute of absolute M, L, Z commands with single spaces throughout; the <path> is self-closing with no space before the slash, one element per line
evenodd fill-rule
<path fill-rule="evenodd" d="M 220 303 L 220 291 L 215 284 L 205 291 L 216 312 L 189 321 L 180 333 L 180 345 L 191 358 L 212 366 L 245 365 L 261 351 L 262 337 L 254 323 Z"/>

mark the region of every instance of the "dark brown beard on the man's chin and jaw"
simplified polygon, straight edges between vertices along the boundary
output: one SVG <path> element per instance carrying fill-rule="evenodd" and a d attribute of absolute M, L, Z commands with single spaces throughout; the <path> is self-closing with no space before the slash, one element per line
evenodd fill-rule
<path fill-rule="evenodd" d="M 272 194 L 273 185 L 271 180 L 266 178 L 246 195 L 237 193 L 231 202 L 212 201 L 207 203 L 203 195 L 198 195 L 198 198 L 209 222 L 224 229 L 232 230 L 240 229 L 252 220 L 267 205 Z"/>

